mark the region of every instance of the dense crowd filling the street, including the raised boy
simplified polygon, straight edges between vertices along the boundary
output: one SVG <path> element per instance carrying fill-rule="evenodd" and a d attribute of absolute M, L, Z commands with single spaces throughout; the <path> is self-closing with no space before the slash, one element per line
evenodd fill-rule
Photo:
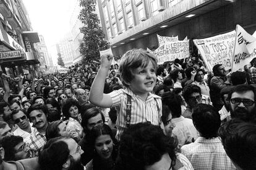
<path fill-rule="evenodd" d="M 1 73 L 0 169 L 256 169 L 256 58 L 236 72 L 198 54 L 112 60 Z"/>

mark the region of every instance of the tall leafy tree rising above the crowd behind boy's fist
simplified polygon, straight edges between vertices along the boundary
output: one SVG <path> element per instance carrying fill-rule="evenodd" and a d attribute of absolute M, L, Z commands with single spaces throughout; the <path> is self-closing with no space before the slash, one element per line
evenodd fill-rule
<path fill-rule="evenodd" d="M 92 61 L 100 59 L 100 51 L 107 49 L 108 41 L 100 27 L 100 20 L 95 14 L 96 0 L 80 0 L 82 10 L 79 19 L 83 23 L 80 32 L 83 33 L 83 40 L 80 43 L 80 53 L 83 56 L 82 63 L 88 64 Z"/>

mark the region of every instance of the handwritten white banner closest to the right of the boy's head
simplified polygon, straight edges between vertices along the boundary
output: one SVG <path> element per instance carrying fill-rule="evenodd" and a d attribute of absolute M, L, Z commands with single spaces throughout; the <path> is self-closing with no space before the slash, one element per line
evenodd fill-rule
<path fill-rule="evenodd" d="M 153 51 L 153 54 L 158 59 L 158 65 L 166 61 L 174 61 L 174 59 L 184 59 L 189 57 L 189 40 L 165 43 Z"/>

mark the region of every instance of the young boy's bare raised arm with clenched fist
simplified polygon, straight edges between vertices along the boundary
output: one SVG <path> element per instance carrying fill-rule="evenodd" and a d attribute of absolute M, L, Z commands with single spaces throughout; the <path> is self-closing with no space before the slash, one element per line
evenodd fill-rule
<path fill-rule="evenodd" d="M 102 108 L 109 108 L 112 105 L 111 97 L 108 94 L 103 93 L 105 80 L 112 60 L 112 55 L 101 56 L 101 66 L 95 79 L 93 80 L 90 90 L 90 102 Z"/>

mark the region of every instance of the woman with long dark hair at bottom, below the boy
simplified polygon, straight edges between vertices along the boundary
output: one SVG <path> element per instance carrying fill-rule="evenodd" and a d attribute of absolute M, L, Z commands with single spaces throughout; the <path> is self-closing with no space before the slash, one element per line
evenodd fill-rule
<path fill-rule="evenodd" d="M 85 169 L 114 169 L 117 157 L 117 140 L 106 124 L 98 124 L 88 133 L 88 143 L 94 148 L 94 155 Z"/>

